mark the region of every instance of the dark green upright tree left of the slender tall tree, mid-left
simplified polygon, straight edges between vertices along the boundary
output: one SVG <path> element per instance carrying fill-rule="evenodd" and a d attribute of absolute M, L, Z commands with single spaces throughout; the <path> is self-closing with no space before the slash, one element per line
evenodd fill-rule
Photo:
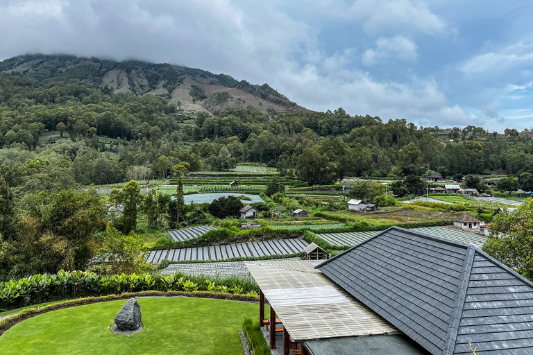
<path fill-rule="evenodd" d="M 110 201 L 112 203 L 124 205 L 122 211 L 122 223 L 124 225 L 124 233 L 129 233 L 137 227 L 137 207 L 142 203 L 143 197 L 140 193 L 141 189 L 135 180 L 131 180 L 119 189 L 112 189 Z"/>

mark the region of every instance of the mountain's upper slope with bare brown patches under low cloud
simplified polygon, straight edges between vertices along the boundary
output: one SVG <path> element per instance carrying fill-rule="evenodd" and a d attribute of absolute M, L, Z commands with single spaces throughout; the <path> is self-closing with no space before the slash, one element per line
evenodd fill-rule
<path fill-rule="evenodd" d="M 113 92 L 161 96 L 185 112 L 214 113 L 228 107 L 248 106 L 265 113 L 310 111 L 296 105 L 268 84 L 252 85 L 226 74 L 169 63 L 27 54 L 0 62 L 0 74 L 10 73 L 21 73 L 42 85 L 81 81 Z"/>

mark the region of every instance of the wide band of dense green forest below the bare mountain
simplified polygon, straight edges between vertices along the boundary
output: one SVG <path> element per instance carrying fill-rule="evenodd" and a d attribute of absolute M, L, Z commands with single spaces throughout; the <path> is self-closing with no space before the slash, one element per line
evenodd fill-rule
<path fill-rule="evenodd" d="M 341 108 L 268 115 L 228 108 L 191 116 L 150 94 L 0 78 L 0 165 L 13 187 L 35 184 L 28 178 L 44 172 L 60 171 L 80 184 L 121 182 L 135 177 L 139 166 L 160 176 L 180 161 L 189 162 L 190 171 L 260 162 L 309 184 L 427 171 L 450 177 L 533 172 L 533 140 L 516 130 L 448 131 L 350 116 Z M 161 165 L 162 156 L 169 162 Z"/>

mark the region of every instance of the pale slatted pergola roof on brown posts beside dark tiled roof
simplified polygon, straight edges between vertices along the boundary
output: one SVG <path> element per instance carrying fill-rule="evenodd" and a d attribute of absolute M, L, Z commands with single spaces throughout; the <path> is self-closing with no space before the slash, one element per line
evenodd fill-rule
<path fill-rule="evenodd" d="M 302 354 L 296 345 L 305 340 L 400 334 L 396 327 L 314 269 L 318 263 L 246 261 L 260 287 L 260 324 L 270 326 L 271 349 L 276 349 L 276 331 L 283 331 L 287 355 Z M 265 299 L 270 304 L 269 320 L 264 320 Z M 279 323 L 283 327 L 276 329 Z"/>

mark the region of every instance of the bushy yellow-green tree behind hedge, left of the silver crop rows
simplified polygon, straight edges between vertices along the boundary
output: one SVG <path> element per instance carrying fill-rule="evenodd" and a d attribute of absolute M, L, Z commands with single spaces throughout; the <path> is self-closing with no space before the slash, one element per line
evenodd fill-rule
<path fill-rule="evenodd" d="M 147 252 L 148 248 L 140 236 L 133 232 L 122 234 L 108 226 L 103 234 L 98 256 L 103 262 L 110 263 L 111 275 L 119 275 L 122 272 L 132 274 L 144 265 Z"/>

